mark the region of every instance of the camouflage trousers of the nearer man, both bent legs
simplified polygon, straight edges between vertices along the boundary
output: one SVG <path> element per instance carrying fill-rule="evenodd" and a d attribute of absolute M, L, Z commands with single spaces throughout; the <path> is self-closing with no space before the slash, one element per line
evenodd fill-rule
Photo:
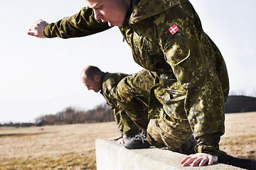
<path fill-rule="evenodd" d="M 174 120 L 164 111 L 157 119 L 149 118 L 149 98 L 154 86 L 154 74 L 142 70 L 122 79 L 117 85 L 117 101 L 144 132 L 154 147 L 183 154 L 195 153 L 196 140 L 188 120 Z"/>

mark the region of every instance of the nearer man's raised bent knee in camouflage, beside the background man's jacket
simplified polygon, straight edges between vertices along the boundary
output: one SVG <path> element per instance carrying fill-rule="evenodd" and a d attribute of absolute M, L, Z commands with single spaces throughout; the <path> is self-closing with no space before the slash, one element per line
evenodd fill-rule
<path fill-rule="evenodd" d="M 117 102 L 139 128 L 146 130 L 149 123 L 149 91 L 154 76 L 148 70 L 125 77 L 117 85 Z"/>

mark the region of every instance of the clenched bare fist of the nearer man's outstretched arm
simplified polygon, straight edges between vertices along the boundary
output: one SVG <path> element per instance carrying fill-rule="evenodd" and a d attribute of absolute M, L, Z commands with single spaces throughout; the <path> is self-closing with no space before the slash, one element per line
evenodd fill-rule
<path fill-rule="evenodd" d="M 48 23 L 46 21 L 43 21 L 41 19 L 39 19 L 38 21 L 35 21 L 35 23 L 33 23 L 29 30 L 28 30 L 28 35 L 32 35 L 35 36 L 37 38 L 46 38 L 46 35 L 44 35 L 43 33 L 43 28 L 48 25 Z"/>

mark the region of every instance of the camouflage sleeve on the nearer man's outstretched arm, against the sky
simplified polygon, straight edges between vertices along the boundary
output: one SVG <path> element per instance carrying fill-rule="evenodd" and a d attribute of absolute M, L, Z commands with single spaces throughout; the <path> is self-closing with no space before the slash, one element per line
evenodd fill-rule
<path fill-rule="evenodd" d="M 44 28 L 46 38 L 76 38 L 100 33 L 110 26 L 95 20 L 92 8 L 82 8 L 74 16 L 65 17 L 56 23 L 50 23 Z"/>

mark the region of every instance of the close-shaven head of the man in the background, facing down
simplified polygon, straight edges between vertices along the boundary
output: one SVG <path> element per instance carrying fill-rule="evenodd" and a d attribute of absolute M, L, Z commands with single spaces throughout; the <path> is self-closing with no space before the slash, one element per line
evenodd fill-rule
<path fill-rule="evenodd" d="M 87 86 L 88 90 L 99 92 L 102 89 L 102 71 L 95 66 L 87 66 L 81 73 L 82 84 Z"/>

